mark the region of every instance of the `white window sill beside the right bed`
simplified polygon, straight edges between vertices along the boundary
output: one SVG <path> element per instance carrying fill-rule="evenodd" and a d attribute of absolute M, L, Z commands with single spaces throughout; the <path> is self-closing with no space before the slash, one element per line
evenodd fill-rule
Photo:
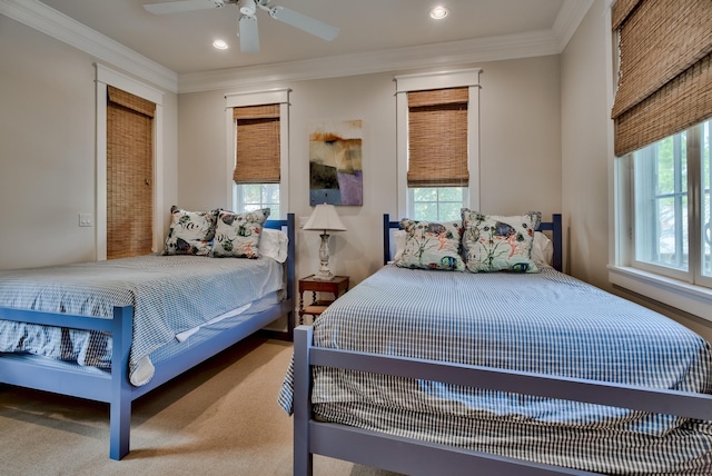
<path fill-rule="evenodd" d="M 625 266 L 609 266 L 609 280 L 615 286 L 712 321 L 712 289 Z"/>

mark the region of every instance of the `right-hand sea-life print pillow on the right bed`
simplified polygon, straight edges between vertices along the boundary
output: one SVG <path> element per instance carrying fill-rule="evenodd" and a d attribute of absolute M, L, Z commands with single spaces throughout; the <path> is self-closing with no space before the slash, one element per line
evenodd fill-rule
<path fill-rule="evenodd" d="M 472 272 L 538 272 L 532 259 L 534 231 L 542 214 L 484 215 L 462 209 L 465 262 Z"/>

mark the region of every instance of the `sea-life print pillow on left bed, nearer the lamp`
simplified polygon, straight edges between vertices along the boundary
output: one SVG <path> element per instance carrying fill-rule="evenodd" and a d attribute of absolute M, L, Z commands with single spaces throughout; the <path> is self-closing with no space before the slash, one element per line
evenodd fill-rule
<path fill-rule="evenodd" d="M 236 214 L 219 210 L 212 241 L 216 258 L 259 258 L 259 239 L 269 208 Z"/>

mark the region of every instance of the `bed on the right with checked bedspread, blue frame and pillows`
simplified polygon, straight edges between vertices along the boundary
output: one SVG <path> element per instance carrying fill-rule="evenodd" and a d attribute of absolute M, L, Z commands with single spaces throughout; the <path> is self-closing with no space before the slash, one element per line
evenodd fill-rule
<path fill-rule="evenodd" d="M 400 225 L 384 216 L 385 260 Z M 413 475 L 712 474 L 710 344 L 560 272 L 561 216 L 538 229 L 555 248 L 538 272 L 387 264 L 295 329 L 295 475 L 314 454 Z M 521 241 L 500 222 L 469 238 L 485 231 Z"/>

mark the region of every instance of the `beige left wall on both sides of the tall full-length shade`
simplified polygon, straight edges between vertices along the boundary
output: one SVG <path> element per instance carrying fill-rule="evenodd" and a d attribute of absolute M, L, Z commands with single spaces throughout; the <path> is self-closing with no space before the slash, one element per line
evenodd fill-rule
<path fill-rule="evenodd" d="M 0 16 L 0 269 L 96 258 L 95 60 Z M 110 65 L 107 65 L 110 66 Z M 165 201 L 177 197 L 177 98 L 166 93 Z"/>

